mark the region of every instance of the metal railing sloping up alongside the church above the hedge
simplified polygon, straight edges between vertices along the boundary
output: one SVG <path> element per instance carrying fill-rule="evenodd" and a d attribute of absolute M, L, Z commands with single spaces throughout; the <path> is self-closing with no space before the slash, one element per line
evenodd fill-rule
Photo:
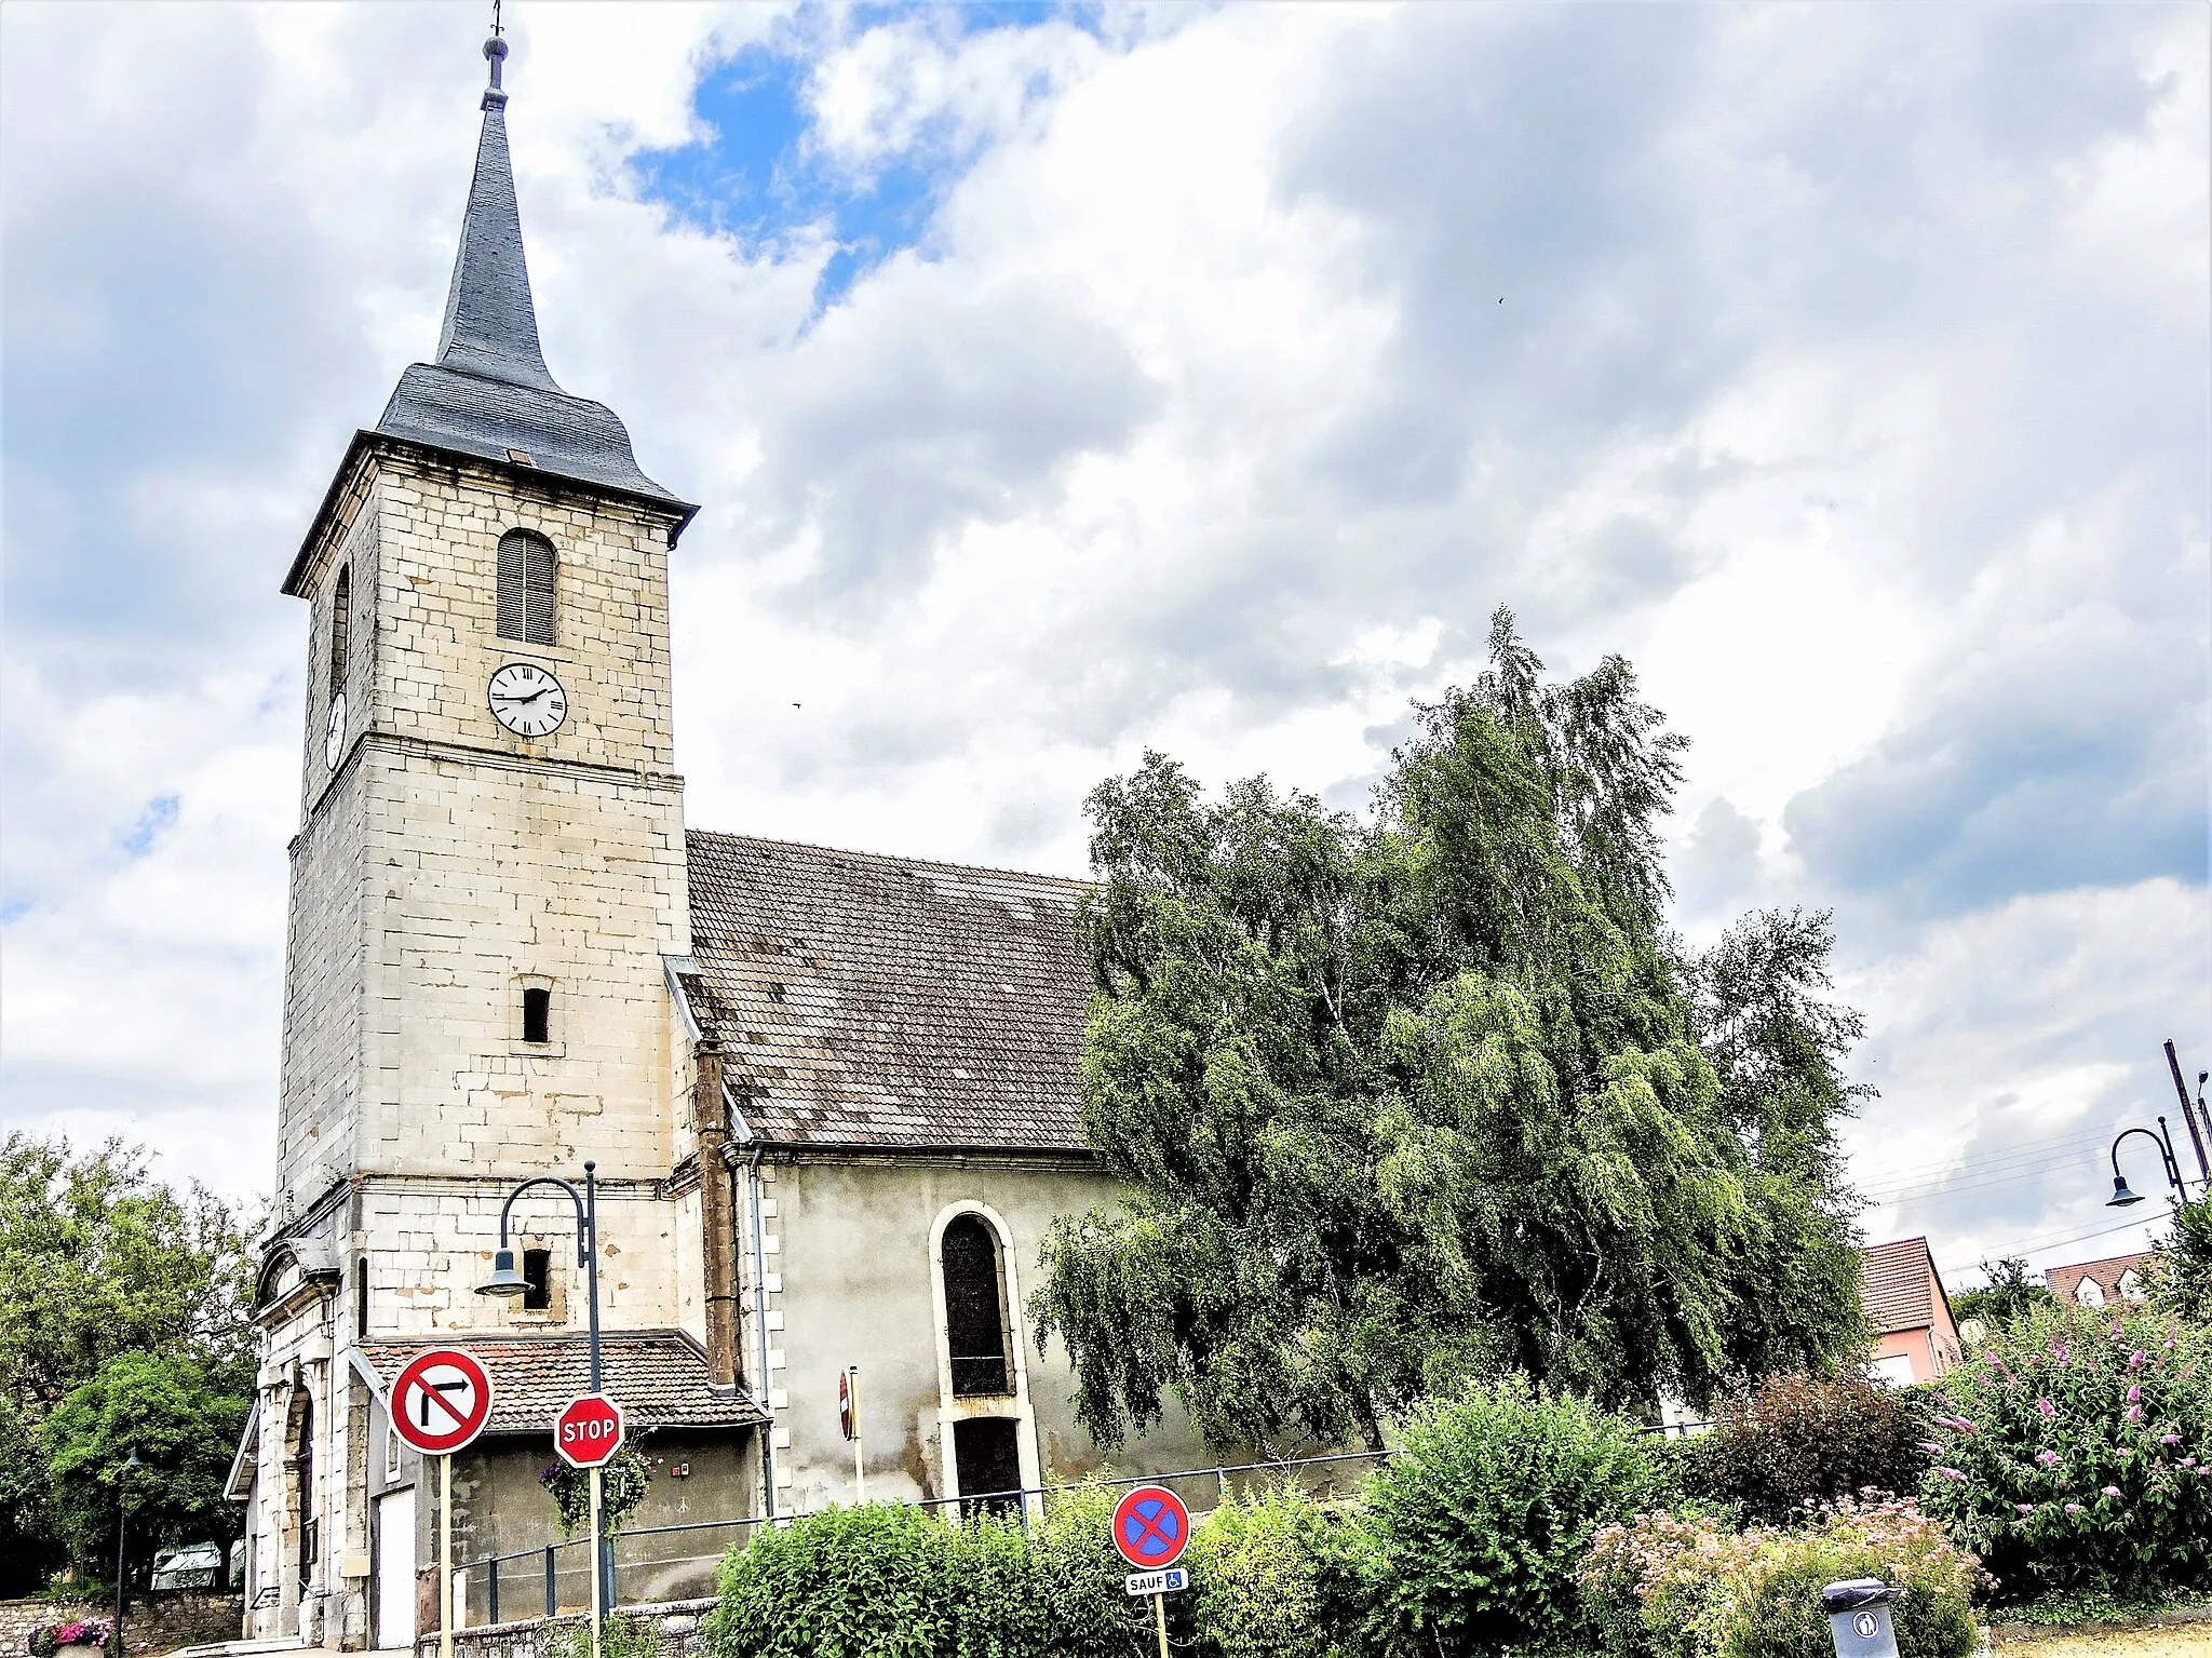
<path fill-rule="evenodd" d="M 1710 1421 L 1668 1421 L 1644 1433 L 1663 1439 L 1686 1439 L 1712 1428 Z M 1015 1490 L 980 1492 L 971 1497 L 931 1497 L 905 1508 L 951 1510 L 956 1519 L 967 1514 L 1011 1514 L 1029 1525 L 1051 1505 L 1055 1497 L 1071 1490 L 1124 1490 L 1130 1486 L 1168 1486 L 1190 1503 L 1192 1514 L 1208 1512 L 1239 1486 L 1250 1488 L 1270 1475 L 1296 1479 L 1314 1494 L 1336 1490 L 1336 1472 L 1349 1472 L 1347 1463 L 1371 1466 L 1389 1459 L 1389 1450 L 1347 1450 L 1334 1457 L 1292 1457 L 1283 1461 L 1219 1463 L 1214 1468 L 1181 1468 L 1170 1475 L 1130 1475 L 1126 1479 L 1099 1479 L 1060 1486 L 1022 1486 Z M 1327 1472 L 1321 1472 L 1327 1470 Z M 1203 1486 L 1212 1490 L 1206 1492 Z M 1199 1486 L 1197 1492 L 1190 1486 Z M 637 1525 L 615 1532 L 606 1541 L 606 1605 L 650 1605 L 661 1601 L 684 1601 L 714 1592 L 714 1563 L 732 1543 L 750 1536 L 757 1525 L 787 1525 L 805 1519 L 810 1510 L 790 1510 L 774 1521 L 759 1514 L 741 1519 L 686 1521 L 684 1525 Z M 476 1627 L 502 1623 L 504 1618 L 557 1618 L 568 1612 L 584 1612 L 591 1605 L 591 1541 L 575 1536 L 566 1543 L 518 1550 L 513 1554 L 491 1554 L 482 1561 L 467 1561 L 453 1567 L 456 1623 Z"/>

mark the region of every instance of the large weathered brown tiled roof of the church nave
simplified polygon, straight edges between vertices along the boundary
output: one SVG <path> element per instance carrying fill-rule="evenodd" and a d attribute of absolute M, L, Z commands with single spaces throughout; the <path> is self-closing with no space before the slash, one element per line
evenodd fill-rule
<path fill-rule="evenodd" d="M 765 1141 L 1079 1152 L 1084 882 L 686 836 L 692 1017 Z"/>

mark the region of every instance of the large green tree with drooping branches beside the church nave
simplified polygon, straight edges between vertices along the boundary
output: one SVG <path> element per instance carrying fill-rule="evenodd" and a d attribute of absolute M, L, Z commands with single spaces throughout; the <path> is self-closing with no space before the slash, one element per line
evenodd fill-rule
<path fill-rule="evenodd" d="M 1102 1444 L 1175 1393 L 1214 1446 L 1383 1441 L 1467 1375 L 1626 1408 L 1863 1340 L 1825 915 L 1686 959 L 1686 738 L 1498 612 L 1367 818 L 1148 754 L 1091 800 L 1086 1134 L 1117 1211 L 1033 1295 Z"/>

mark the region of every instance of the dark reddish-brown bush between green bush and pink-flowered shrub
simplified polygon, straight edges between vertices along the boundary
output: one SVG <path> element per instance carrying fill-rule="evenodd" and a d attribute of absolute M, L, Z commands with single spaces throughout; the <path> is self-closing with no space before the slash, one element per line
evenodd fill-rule
<path fill-rule="evenodd" d="M 1774 1375 L 1730 1399 L 1712 1433 L 1683 1439 L 1672 1452 L 1674 1475 L 1688 1497 L 1787 1525 L 1803 1519 L 1807 1497 L 1920 1490 L 1927 1417 L 1922 1395 L 1863 1375 Z"/>

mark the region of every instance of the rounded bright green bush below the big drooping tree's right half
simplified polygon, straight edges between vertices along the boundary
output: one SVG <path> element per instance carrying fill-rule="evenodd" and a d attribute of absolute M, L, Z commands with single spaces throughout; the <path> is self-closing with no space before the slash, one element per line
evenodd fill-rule
<path fill-rule="evenodd" d="M 1659 1492 L 1635 1421 L 1522 1375 L 1420 1408 L 1367 1481 L 1371 1643 L 1449 1656 L 1588 1636 L 1575 1567 Z"/>

